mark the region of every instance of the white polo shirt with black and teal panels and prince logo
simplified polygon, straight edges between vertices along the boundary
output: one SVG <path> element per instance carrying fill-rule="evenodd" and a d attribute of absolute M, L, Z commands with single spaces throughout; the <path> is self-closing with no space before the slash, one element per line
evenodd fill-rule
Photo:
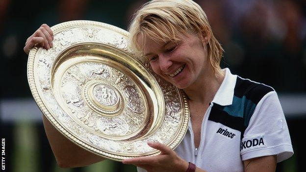
<path fill-rule="evenodd" d="M 277 155 L 280 162 L 292 156 L 287 123 L 275 90 L 225 70 L 202 121 L 200 146 L 194 146 L 189 121 L 187 133 L 175 149 L 178 156 L 207 172 L 243 172 L 247 159 Z"/>

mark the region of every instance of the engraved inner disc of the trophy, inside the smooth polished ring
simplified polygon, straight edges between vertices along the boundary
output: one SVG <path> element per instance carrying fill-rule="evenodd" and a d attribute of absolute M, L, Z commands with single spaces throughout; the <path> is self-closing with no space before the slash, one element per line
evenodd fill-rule
<path fill-rule="evenodd" d="M 148 118 L 144 114 L 144 99 L 140 96 L 134 81 L 127 75 L 103 63 L 88 61 L 72 64 L 59 75 L 62 76 L 59 89 L 63 102 L 72 113 L 72 117 L 75 117 L 77 123 L 83 127 L 90 128 L 102 137 L 111 136 L 117 139 L 133 137 L 136 135 L 135 132 L 144 127 Z M 121 94 L 126 90 L 125 83 L 111 84 L 118 76 L 133 88 L 129 97 L 123 98 Z M 128 107 L 125 108 L 128 102 L 136 102 L 137 106 L 142 106 L 137 107 L 136 111 L 139 112 L 140 109 L 141 114 L 133 115 L 135 109 L 130 111 Z M 136 107 L 133 104 L 131 107 Z"/>

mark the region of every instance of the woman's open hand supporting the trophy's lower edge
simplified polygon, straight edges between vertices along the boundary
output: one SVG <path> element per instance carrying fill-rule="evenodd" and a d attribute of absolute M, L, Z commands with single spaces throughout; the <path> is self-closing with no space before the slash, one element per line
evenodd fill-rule
<path fill-rule="evenodd" d="M 148 142 L 150 147 L 158 149 L 161 153 L 157 156 L 145 156 L 126 159 L 124 164 L 133 164 L 148 172 L 186 172 L 188 163 L 178 157 L 175 151 L 159 142 Z"/>

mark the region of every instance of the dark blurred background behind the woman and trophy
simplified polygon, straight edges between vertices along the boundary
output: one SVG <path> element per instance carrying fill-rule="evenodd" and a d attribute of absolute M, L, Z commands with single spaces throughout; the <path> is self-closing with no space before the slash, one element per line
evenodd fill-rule
<path fill-rule="evenodd" d="M 27 84 L 26 39 L 42 24 L 93 20 L 128 28 L 146 0 L 0 0 L 0 120 L 5 172 L 135 172 L 103 161 L 60 169 Z M 225 49 L 223 67 L 272 86 L 279 94 L 295 154 L 278 172 L 302 172 L 306 162 L 306 1 L 196 0 Z M 268 115 L 268 114 L 267 114 Z"/>

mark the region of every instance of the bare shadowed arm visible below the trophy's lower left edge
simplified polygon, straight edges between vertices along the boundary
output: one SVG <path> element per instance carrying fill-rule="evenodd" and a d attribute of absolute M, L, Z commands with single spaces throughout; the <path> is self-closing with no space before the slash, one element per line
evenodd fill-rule
<path fill-rule="evenodd" d="M 104 158 L 72 143 L 57 131 L 44 115 L 43 122 L 51 149 L 59 167 L 82 167 L 104 160 Z"/>

